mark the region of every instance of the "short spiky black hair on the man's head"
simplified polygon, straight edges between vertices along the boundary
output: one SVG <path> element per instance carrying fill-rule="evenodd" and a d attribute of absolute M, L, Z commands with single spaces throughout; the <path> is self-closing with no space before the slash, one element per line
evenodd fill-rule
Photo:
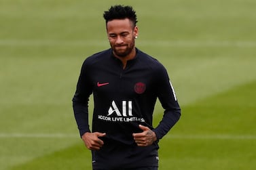
<path fill-rule="evenodd" d="M 134 26 L 136 26 L 137 18 L 136 12 L 132 9 L 131 6 L 124 6 L 124 5 L 114 5 L 109 8 L 109 11 L 104 12 L 103 17 L 107 22 L 115 19 L 126 19 L 128 18 Z"/>

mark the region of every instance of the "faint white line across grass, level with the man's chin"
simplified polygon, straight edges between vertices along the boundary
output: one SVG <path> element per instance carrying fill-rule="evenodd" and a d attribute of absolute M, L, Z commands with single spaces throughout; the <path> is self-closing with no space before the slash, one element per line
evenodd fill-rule
<path fill-rule="evenodd" d="M 256 47 L 256 41 L 136 41 L 138 46 L 163 47 Z M 39 39 L 0 39 L 0 46 L 103 46 L 109 45 L 107 39 L 103 40 L 39 40 Z"/>

